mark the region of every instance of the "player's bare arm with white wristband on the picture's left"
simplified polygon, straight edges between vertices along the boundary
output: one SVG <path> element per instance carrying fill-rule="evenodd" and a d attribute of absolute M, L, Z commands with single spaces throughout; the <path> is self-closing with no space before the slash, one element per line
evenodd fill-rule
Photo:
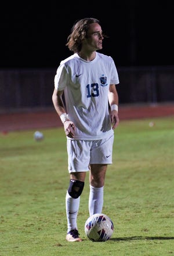
<path fill-rule="evenodd" d="M 57 114 L 59 115 L 61 121 L 63 122 L 64 131 L 66 135 L 70 138 L 74 138 L 75 125 L 67 117 L 66 110 L 63 104 L 63 99 L 62 99 L 63 92 L 64 91 L 58 91 L 55 88 L 52 95 L 52 101 Z"/>

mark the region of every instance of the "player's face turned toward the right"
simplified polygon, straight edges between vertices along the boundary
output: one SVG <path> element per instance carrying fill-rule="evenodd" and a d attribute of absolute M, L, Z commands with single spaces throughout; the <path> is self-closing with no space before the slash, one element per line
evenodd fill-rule
<path fill-rule="evenodd" d="M 102 35 L 102 28 L 98 23 L 92 23 L 89 25 L 87 38 L 86 38 L 86 46 L 91 51 L 96 51 L 102 49 L 102 41 L 103 41 L 103 35 Z"/>

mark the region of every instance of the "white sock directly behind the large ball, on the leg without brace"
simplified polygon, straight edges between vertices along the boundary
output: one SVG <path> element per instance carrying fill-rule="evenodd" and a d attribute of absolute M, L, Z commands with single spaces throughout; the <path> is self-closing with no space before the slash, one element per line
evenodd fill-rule
<path fill-rule="evenodd" d="M 96 213 L 102 213 L 103 208 L 103 190 L 102 188 L 95 188 L 91 185 L 89 193 L 89 215 L 92 216 Z"/>

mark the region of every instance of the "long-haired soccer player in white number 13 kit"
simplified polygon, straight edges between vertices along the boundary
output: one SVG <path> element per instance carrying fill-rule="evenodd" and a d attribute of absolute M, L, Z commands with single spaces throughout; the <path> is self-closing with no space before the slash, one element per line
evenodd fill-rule
<path fill-rule="evenodd" d="M 89 215 L 102 213 L 107 165 L 112 164 L 114 129 L 119 124 L 117 68 L 97 52 L 104 35 L 99 20 L 78 20 L 68 36 L 74 54 L 61 61 L 52 100 L 67 137 L 70 183 L 66 193 L 67 241 L 82 241 L 77 215 L 89 171 Z"/>

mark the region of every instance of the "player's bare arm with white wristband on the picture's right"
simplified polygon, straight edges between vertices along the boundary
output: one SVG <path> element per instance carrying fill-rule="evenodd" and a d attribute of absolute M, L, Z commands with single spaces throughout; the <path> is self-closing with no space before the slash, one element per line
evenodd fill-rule
<path fill-rule="evenodd" d="M 112 128 L 115 129 L 119 124 L 118 117 L 118 93 L 115 84 L 110 84 L 108 92 L 108 102 L 111 107 L 110 119 Z"/>

